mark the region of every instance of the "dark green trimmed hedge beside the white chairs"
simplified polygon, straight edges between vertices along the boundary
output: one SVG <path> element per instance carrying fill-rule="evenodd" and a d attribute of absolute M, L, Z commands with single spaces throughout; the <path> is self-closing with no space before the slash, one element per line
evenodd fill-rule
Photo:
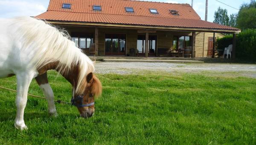
<path fill-rule="evenodd" d="M 217 49 L 224 50 L 233 44 L 232 35 L 217 39 Z M 237 35 L 236 58 L 244 61 L 256 61 L 256 29 L 247 29 Z"/>

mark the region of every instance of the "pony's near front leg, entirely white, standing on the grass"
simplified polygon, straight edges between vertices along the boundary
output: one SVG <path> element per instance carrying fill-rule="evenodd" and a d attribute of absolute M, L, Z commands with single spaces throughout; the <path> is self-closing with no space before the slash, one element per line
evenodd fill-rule
<path fill-rule="evenodd" d="M 17 77 L 17 96 L 16 96 L 17 113 L 16 113 L 14 126 L 17 129 L 23 130 L 23 129 L 27 129 L 23 119 L 23 115 L 24 115 L 24 109 L 26 107 L 29 85 L 34 77 L 34 74 L 19 73 L 16 75 L 16 77 Z"/>

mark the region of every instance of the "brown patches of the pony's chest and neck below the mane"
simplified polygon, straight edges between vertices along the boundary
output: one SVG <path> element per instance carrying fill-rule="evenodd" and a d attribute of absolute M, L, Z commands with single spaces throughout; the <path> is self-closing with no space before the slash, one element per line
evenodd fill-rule
<path fill-rule="evenodd" d="M 58 70 L 58 62 L 53 62 L 45 65 L 44 67 L 41 67 L 41 69 L 38 70 L 39 75 L 42 75 L 47 72 L 47 70 Z M 70 69 L 70 71 L 61 74 L 64 78 L 66 78 L 67 81 L 72 84 L 73 87 L 76 87 L 77 81 L 78 81 L 78 66 L 73 66 L 73 68 Z"/>

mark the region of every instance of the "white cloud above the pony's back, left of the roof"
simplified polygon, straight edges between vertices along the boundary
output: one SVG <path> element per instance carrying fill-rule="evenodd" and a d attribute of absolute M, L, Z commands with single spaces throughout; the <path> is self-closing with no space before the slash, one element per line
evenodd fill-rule
<path fill-rule="evenodd" d="M 0 0 L 0 17 L 36 16 L 46 12 L 47 7 L 35 1 Z"/>

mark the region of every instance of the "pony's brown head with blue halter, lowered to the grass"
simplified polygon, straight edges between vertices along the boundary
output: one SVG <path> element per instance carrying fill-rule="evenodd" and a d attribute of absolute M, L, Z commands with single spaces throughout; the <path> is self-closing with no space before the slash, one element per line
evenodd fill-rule
<path fill-rule="evenodd" d="M 89 118 L 94 114 L 94 100 L 101 95 L 102 84 L 93 73 L 89 73 L 86 76 L 86 82 L 84 92 L 82 94 L 75 94 L 72 103 L 78 108 L 80 116 Z"/>

